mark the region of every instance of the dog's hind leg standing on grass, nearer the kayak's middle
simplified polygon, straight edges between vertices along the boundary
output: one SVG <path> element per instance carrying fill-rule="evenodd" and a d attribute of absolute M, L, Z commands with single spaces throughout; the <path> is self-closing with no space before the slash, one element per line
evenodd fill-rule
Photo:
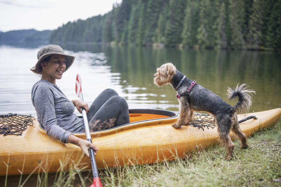
<path fill-rule="evenodd" d="M 222 145 L 227 149 L 227 156 L 225 160 L 231 160 L 233 157 L 234 143 L 231 141 L 229 136 L 231 119 L 229 118 L 218 118 L 217 117 L 217 126 L 219 131 L 219 138 L 222 141 Z"/>

